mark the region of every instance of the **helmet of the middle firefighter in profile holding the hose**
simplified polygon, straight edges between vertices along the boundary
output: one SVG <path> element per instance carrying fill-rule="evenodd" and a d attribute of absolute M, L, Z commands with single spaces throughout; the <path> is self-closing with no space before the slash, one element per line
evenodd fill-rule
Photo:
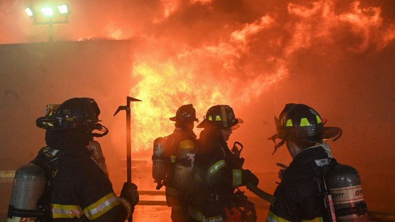
<path fill-rule="evenodd" d="M 202 123 L 197 128 L 217 126 L 219 128 L 230 128 L 235 130 L 243 123 L 243 119 L 234 116 L 233 109 L 228 105 L 215 105 L 207 110 Z"/>

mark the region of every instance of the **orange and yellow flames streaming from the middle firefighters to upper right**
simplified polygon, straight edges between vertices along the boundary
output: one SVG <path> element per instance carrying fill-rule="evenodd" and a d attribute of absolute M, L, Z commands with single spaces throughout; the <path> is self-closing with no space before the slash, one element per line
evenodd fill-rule
<path fill-rule="evenodd" d="M 162 2 L 163 17 L 155 23 L 182 10 L 177 1 Z M 211 1 L 195 3 L 207 6 Z M 130 95 L 143 100 L 132 108 L 133 147 L 147 150 L 153 139 L 170 134 L 174 126 L 169 117 L 184 104 L 192 103 L 200 120 L 216 104 L 232 106 L 237 115 L 251 98 L 291 75 L 289 60 L 300 50 L 361 53 L 369 47 L 383 49 L 395 38 L 395 26 L 383 25 L 380 7 L 364 8 L 356 1 L 337 12 L 335 6 L 330 0 L 288 3 L 288 21 L 267 13 L 249 23 L 225 25 L 219 41 L 202 40 L 198 47 L 169 36 L 150 38 L 155 47 L 137 53 L 132 68 L 136 84 Z"/>

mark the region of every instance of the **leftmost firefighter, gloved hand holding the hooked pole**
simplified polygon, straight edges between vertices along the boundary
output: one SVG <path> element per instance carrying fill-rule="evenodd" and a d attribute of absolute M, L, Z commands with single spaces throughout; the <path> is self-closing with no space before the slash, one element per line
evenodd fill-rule
<path fill-rule="evenodd" d="M 94 99 L 71 98 L 36 120 L 38 127 L 46 129 L 47 147 L 31 163 L 47 174 L 45 191 L 38 200 L 49 211 L 45 212 L 46 221 L 121 222 L 131 218 L 139 201 L 137 186 L 124 183 L 120 197 L 116 196 L 111 181 L 87 148 L 92 136 L 108 132 L 98 124 L 99 114 Z"/>

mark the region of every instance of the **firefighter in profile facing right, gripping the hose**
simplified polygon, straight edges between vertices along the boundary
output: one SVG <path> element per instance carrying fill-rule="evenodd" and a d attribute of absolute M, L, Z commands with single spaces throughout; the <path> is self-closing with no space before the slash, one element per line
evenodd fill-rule
<path fill-rule="evenodd" d="M 258 178 L 232 156 L 226 141 L 243 120 L 227 105 L 208 109 L 198 128 L 200 134 L 194 167 L 194 195 L 189 208 L 191 221 L 240 221 L 241 212 L 232 203 L 235 188 L 258 185 Z"/>

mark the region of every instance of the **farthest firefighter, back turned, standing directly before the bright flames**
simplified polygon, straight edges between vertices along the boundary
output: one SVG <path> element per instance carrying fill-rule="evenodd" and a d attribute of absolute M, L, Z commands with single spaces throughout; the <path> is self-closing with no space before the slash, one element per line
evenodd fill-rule
<path fill-rule="evenodd" d="M 196 135 L 193 128 L 194 122 L 199 122 L 199 120 L 196 118 L 196 111 L 192 104 L 181 106 L 177 109 L 175 116 L 169 119 L 175 122 L 175 129 L 166 137 L 164 145 L 164 155 L 168 160 L 164 182 L 166 201 L 168 207 L 171 207 L 171 220 L 186 222 L 189 220 L 187 189 L 193 166 L 187 165 L 192 158 L 185 154 L 194 155 Z"/>

